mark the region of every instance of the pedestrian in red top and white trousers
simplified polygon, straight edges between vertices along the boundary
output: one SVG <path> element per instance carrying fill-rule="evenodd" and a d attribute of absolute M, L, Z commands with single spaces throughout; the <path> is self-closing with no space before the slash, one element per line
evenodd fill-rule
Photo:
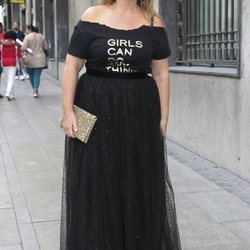
<path fill-rule="evenodd" d="M 16 33 L 13 30 L 7 31 L 4 35 L 5 42 L 14 43 L 16 40 Z M 8 101 L 14 99 L 14 81 L 16 74 L 17 60 L 22 62 L 21 49 L 18 46 L 1 45 L 1 61 L 3 70 L 7 77 L 7 88 L 5 97 Z"/>

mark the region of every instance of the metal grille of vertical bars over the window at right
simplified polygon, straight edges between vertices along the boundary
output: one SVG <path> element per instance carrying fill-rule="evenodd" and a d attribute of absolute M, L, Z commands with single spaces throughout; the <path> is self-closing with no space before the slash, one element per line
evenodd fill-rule
<path fill-rule="evenodd" d="M 178 0 L 177 64 L 237 67 L 238 0 Z"/>

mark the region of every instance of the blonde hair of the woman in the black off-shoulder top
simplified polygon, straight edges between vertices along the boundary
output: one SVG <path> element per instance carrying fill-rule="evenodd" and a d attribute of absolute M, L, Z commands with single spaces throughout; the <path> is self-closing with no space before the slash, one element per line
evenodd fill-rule
<path fill-rule="evenodd" d="M 116 2 L 116 0 L 100 0 L 100 4 L 102 5 L 112 5 Z M 155 0 L 137 0 L 137 5 L 142 10 L 143 15 L 147 20 L 151 20 L 151 17 L 160 15 L 154 8 Z"/>

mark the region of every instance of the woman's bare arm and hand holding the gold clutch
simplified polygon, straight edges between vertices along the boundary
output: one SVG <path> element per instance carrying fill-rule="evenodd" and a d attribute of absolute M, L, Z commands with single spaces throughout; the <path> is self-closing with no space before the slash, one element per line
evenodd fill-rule
<path fill-rule="evenodd" d="M 77 130 L 73 104 L 78 80 L 78 74 L 84 66 L 85 60 L 67 54 L 62 82 L 63 129 L 69 137 L 75 137 Z"/>

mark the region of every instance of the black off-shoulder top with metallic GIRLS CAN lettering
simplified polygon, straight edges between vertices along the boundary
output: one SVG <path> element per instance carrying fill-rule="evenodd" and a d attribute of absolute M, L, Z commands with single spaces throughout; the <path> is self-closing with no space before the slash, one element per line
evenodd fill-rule
<path fill-rule="evenodd" d="M 74 27 L 68 54 L 86 59 L 87 69 L 112 73 L 151 73 L 152 59 L 171 50 L 163 27 L 142 25 L 132 30 L 80 20 Z"/>

